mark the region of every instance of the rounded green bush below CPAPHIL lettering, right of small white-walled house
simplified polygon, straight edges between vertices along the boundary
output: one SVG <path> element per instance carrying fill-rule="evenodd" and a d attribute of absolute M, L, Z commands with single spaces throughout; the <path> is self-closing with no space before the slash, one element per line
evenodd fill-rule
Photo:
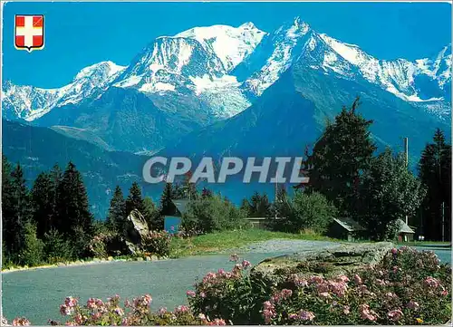
<path fill-rule="evenodd" d="M 245 218 L 246 213 L 226 198 L 212 196 L 189 202 L 188 210 L 182 217 L 182 226 L 187 231 L 211 233 L 246 227 L 248 224 Z"/>

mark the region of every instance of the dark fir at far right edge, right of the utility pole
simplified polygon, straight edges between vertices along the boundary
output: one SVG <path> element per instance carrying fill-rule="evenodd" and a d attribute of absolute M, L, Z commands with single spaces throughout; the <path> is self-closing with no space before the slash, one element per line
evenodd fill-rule
<path fill-rule="evenodd" d="M 451 145 L 442 130 L 436 130 L 433 142 L 427 144 L 421 154 L 419 178 L 427 188 L 421 208 L 421 234 L 427 240 L 441 240 L 443 229 L 444 240 L 450 240 Z"/>

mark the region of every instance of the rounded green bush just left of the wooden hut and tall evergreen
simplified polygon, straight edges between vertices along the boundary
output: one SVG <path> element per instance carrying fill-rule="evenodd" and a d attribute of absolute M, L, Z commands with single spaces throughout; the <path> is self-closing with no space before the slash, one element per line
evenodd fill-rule
<path fill-rule="evenodd" d="M 337 209 L 318 192 L 296 191 L 293 198 L 282 196 L 275 205 L 277 219 L 271 220 L 271 228 L 298 233 L 312 231 L 323 234 L 337 215 Z"/>

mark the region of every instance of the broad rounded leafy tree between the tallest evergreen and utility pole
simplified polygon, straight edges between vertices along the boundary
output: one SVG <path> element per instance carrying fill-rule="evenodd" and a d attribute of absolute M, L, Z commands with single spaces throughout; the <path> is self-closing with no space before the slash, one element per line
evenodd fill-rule
<path fill-rule="evenodd" d="M 413 216 L 419 208 L 425 189 L 405 164 L 401 155 L 386 149 L 371 160 L 359 187 L 357 220 L 374 240 L 394 239 L 400 229 L 398 219 Z"/>

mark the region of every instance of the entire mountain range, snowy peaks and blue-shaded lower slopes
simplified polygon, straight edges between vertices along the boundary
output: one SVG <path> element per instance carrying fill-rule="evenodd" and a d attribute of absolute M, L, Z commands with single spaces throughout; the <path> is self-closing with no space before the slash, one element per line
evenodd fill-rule
<path fill-rule="evenodd" d="M 296 156 L 360 95 L 377 144 L 400 149 L 409 137 L 415 160 L 437 127 L 450 137 L 451 62 L 451 44 L 380 60 L 299 17 L 270 32 L 195 27 L 158 37 L 128 66 L 83 68 L 61 88 L 4 81 L 2 115 L 103 151 Z"/>

